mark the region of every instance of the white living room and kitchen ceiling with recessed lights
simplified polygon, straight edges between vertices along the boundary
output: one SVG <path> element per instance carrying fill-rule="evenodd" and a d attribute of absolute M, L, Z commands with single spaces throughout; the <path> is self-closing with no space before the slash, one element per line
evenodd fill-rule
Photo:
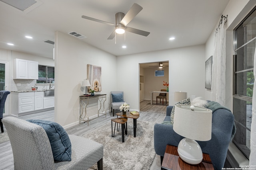
<path fill-rule="evenodd" d="M 81 41 L 116 56 L 200 45 L 216 29 L 228 1 L 40 0 L 24 12 L 0 2 L 0 48 L 52 58 L 54 45 L 43 41 L 54 41 L 55 31 L 76 31 L 87 37 Z M 113 26 L 81 17 L 115 23 L 115 14 L 126 14 L 134 2 L 143 9 L 127 26 L 150 32 L 148 37 L 126 32 L 125 38 L 117 35 L 115 43 L 107 40 Z M 176 39 L 170 41 L 172 36 Z"/>

